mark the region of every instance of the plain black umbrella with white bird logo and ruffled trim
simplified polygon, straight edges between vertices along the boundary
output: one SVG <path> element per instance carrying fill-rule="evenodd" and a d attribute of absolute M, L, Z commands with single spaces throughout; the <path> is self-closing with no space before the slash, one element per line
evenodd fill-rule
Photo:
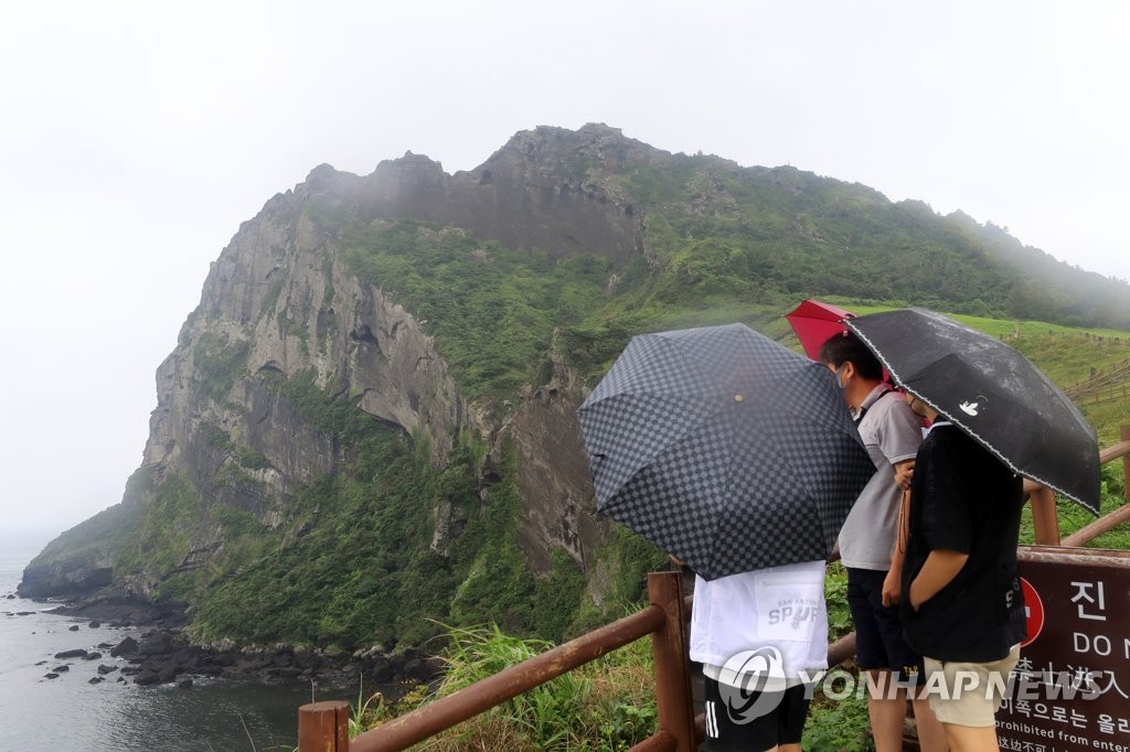
<path fill-rule="evenodd" d="M 1083 413 L 1009 346 L 924 308 L 845 322 L 895 382 L 1014 472 L 1098 514 L 1098 440 Z"/>

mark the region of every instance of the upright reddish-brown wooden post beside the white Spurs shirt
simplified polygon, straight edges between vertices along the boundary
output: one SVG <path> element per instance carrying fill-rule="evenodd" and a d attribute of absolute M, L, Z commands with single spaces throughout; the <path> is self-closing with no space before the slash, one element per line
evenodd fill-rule
<path fill-rule="evenodd" d="M 675 737 L 677 752 L 692 752 L 695 742 L 694 708 L 690 703 L 690 664 L 687 658 L 687 619 L 683 600 L 683 576 L 677 571 L 647 575 L 647 597 L 663 609 L 663 629 L 651 637 L 655 661 L 657 731 Z"/>

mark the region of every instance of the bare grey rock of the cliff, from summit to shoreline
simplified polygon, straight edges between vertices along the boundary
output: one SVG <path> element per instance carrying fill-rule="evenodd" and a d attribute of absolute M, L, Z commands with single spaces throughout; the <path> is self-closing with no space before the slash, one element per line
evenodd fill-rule
<path fill-rule="evenodd" d="M 518 540 L 532 569 L 548 572 L 555 550 L 581 568 L 591 563 L 607 523 L 592 508 L 573 418 L 585 394 L 581 379 L 555 356 L 541 383 L 506 400 L 468 393 L 426 322 L 397 303 L 394 281 L 382 289 L 349 268 L 342 236 L 349 227 L 379 231 L 410 219 L 554 260 L 597 251 L 625 262 L 644 253 L 640 218 L 614 183 L 593 176 L 608 174 L 596 169 L 605 163 L 618 170 L 649 155 L 662 158 L 605 126 L 538 129 L 515 135 L 476 170 L 449 175 L 408 154 L 366 177 L 323 165 L 276 195 L 214 262 L 200 305 L 157 369 L 142 466 L 113 521 L 86 523 L 86 535 L 54 542 L 27 569 L 20 592 L 160 598 L 171 576 L 223 560 L 231 531 L 217 509 L 249 515 L 263 534 L 301 533 L 288 530 L 295 492 L 357 457 L 355 446 L 280 392 L 280 382 L 295 379 L 427 447 L 434 469 L 457 441 L 477 443 L 480 496 L 513 455 Z M 166 541 L 153 531 L 163 525 L 158 516 L 172 514 L 157 500 L 174 481 L 186 482 L 200 508 L 177 509 L 182 528 Z M 444 553 L 466 517 L 435 502 L 429 546 Z M 177 560 L 138 556 L 147 545 L 169 545 Z"/>

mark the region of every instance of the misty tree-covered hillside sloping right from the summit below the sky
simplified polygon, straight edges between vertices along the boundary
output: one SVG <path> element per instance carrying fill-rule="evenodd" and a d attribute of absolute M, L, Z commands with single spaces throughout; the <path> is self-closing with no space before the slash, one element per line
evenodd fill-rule
<path fill-rule="evenodd" d="M 617 180 L 645 217 L 657 266 L 702 292 L 744 286 L 747 299 L 911 300 L 979 316 L 1130 327 L 1124 282 L 1057 262 L 959 212 L 940 217 L 864 185 L 715 157 L 676 155 Z"/>

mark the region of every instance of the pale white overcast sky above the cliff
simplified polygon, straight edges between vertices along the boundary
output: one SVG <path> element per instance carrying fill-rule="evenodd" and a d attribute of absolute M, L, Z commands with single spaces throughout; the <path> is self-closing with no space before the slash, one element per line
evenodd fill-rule
<path fill-rule="evenodd" d="M 0 525 L 118 502 L 240 222 L 536 125 L 790 164 L 1130 278 L 1130 3 L 3 2 Z"/>

